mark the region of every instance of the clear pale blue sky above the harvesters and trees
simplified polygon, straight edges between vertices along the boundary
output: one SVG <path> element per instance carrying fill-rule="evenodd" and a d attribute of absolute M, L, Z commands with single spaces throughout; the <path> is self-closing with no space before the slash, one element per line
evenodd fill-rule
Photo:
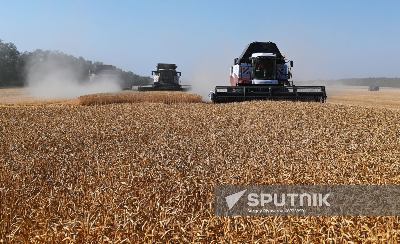
<path fill-rule="evenodd" d="M 60 50 L 140 75 L 172 62 L 186 80 L 228 85 L 246 44 L 272 41 L 294 60 L 295 80 L 400 77 L 399 1 L 3 0 L 0 8 L 0 39 L 20 51 Z"/>

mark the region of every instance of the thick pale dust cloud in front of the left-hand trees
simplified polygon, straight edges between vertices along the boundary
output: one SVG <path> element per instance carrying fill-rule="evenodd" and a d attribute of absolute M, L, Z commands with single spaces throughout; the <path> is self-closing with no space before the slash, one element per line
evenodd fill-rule
<path fill-rule="evenodd" d="M 88 71 L 87 76 L 82 75 L 86 70 L 76 70 L 76 67 L 58 60 L 36 62 L 28 67 L 27 88 L 33 97 L 75 98 L 86 94 L 121 91 L 117 82 L 89 83 Z"/>

